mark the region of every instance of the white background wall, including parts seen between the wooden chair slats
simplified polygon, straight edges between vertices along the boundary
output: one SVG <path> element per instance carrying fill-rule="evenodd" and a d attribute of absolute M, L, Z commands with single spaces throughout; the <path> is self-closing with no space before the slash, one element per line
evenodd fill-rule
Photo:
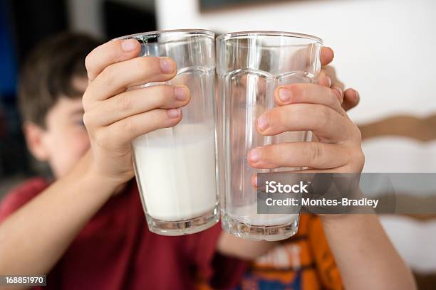
<path fill-rule="evenodd" d="M 160 29 L 276 30 L 320 36 L 335 50 L 333 65 L 341 80 L 360 92 L 358 109 L 351 111 L 355 122 L 395 113 L 425 116 L 436 111 L 434 0 L 271 1 L 206 14 L 199 12 L 198 0 L 158 0 L 156 6 Z M 436 141 L 422 144 L 385 137 L 365 142 L 363 151 L 365 171 L 436 172 L 432 162 Z M 436 240 L 435 222 L 398 217 L 382 221 L 411 267 L 435 271 L 436 249 L 426 244 Z"/>

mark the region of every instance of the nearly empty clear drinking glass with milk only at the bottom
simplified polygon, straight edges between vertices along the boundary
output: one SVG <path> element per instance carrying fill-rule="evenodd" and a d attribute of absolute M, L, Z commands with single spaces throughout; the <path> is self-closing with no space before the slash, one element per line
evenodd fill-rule
<path fill-rule="evenodd" d="M 259 170 L 247 161 L 250 149 L 283 142 L 310 141 L 311 132 L 288 131 L 262 136 L 255 122 L 274 104 L 279 85 L 316 82 L 321 70 L 322 40 L 299 33 L 246 31 L 217 38 L 218 151 L 222 193 L 222 227 L 251 240 L 283 240 L 298 230 L 298 214 L 258 214 L 256 188 L 251 178 Z"/>

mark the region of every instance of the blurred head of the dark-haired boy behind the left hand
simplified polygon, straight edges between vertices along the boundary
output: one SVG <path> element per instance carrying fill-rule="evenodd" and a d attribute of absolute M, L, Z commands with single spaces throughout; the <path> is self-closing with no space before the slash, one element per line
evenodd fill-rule
<path fill-rule="evenodd" d="M 88 150 L 81 104 L 88 86 L 83 62 L 100 44 L 87 35 L 61 34 L 38 45 L 21 69 L 19 107 L 28 149 L 39 161 L 48 161 L 55 178 Z"/>

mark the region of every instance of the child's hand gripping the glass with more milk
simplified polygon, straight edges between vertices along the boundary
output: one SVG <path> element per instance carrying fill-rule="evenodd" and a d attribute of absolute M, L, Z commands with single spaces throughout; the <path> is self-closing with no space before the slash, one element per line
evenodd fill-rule
<path fill-rule="evenodd" d="M 83 95 L 83 121 L 90 136 L 92 170 L 115 183 L 133 177 L 130 141 L 182 119 L 180 107 L 190 101 L 185 86 L 128 87 L 172 79 L 171 58 L 137 57 L 134 39 L 109 41 L 86 58 L 89 85 Z"/>

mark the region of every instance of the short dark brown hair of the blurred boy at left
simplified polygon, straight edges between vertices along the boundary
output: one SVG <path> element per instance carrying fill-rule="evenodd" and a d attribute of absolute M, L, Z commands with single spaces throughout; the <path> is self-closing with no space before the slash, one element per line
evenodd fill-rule
<path fill-rule="evenodd" d="M 81 97 L 74 77 L 86 77 L 85 58 L 100 41 L 83 33 L 62 33 L 42 41 L 28 55 L 19 78 L 23 121 L 46 126 L 48 111 L 62 97 Z"/>

